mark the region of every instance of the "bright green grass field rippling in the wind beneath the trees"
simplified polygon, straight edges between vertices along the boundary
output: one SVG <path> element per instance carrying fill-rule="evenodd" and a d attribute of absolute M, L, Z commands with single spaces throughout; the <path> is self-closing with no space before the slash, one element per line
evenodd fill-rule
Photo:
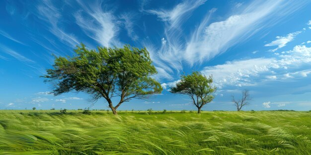
<path fill-rule="evenodd" d="M 311 155 L 311 112 L 0 110 L 0 155 Z"/>

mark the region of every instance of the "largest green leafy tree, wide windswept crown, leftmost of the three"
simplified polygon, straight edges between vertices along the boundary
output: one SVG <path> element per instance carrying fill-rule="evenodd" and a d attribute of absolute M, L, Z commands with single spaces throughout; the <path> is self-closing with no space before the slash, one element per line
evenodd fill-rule
<path fill-rule="evenodd" d="M 52 82 L 54 95 L 67 92 L 86 92 L 94 101 L 104 98 L 114 114 L 131 99 L 142 99 L 162 91 L 151 76 L 156 74 L 146 49 L 124 46 L 88 50 L 77 46 L 73 57 L 56 57 L 54 69 L 48 69 L 45 81 Z M 117 98 L 114 106 L 112 99 Z"/>

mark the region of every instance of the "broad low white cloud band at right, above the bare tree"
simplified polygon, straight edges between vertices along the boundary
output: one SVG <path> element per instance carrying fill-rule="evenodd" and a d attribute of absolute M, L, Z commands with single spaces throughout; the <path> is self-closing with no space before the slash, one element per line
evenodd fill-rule
<path fill-rule="evenodd" d="M 201 73 L 206 76 L 213 74 L 214 83 L 218 88 L 226 85 L 254 86 L 260 81 L 265 81 L 262 80 L 263 77 L 266 80 L 307 77 L 311 69 L 302 69 L 301 66 L 310 66 L 310 63 L 311 47 L 298 45 L 291 51 L 278 53 L 275 58 L 229 61 L 225 64 L 204 67 Z M 292 72 L 288 72 L 288 68 Z"/>

